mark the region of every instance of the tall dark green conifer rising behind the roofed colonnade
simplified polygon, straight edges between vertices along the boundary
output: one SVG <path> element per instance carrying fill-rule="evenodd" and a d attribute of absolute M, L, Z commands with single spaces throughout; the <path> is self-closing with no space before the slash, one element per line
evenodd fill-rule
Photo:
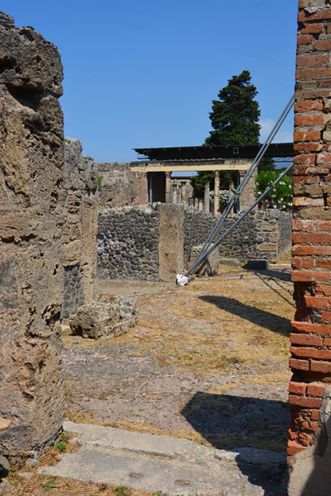
<path fill-rule="evenodd" d="M 258 91 L 251 84 L 251 74 L 244 70 L 238 76 L 232 76 L 227 86 L 218 93 L 218 100 L 212 101 L 209 119 L 213 131 L 205 139 L 204 146 L 258 144 L 260 129 L 259 103 L 255 100 Z M 274 170 L 272 159 L 263 159 L 260 170 Z M 210 182 L 214 188 L 214 175 L 210 172 L 199 172 L 192 179 L 196 196 L 201 197 L 204 183 Z M 238 182 L 236 171 L 224 171 L 220 174 L 220 187 L 227 189 L 229 182 Z"/>

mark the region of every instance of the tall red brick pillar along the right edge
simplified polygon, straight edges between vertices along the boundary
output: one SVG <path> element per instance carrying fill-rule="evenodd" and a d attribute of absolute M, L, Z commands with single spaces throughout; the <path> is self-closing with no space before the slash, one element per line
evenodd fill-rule
<path fill-rule="evenodd" d="M 288 454 L 314 443 L 331 382 L 331 5 L 299 0 Z"/>

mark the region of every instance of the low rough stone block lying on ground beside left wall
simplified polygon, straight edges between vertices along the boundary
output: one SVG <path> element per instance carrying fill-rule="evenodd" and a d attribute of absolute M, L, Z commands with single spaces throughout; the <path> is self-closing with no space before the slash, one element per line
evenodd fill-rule
<path fill-rule="evenodd" d="M 103 297 L 83 305 L 69 318 L 73 334 L 83 338 L 112 338 L 133 327 L 137 319 L 135 301 L 131 298 Z"/>

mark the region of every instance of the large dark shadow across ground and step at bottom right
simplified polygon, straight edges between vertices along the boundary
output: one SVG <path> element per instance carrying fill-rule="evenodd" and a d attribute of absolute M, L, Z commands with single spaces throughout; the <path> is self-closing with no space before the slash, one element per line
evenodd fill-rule
<path fill-rule="evenodd" d="M 265 496 L 286 495 L 286 443 L 290 423 L 287 403 L 198 391 L 181 411 L 185 419 L 217 449 L 267 449 L 284 453 L 284 463 L 250 463 L 238 456 L 237 465 Z M 262 454 L 262 458 L 264 455 Z"/>

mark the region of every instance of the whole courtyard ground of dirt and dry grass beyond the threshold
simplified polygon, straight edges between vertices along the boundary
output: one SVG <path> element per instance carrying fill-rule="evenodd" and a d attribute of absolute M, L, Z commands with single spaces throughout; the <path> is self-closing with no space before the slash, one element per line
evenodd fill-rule
<path fill-rule="evenodd" d="M 101 282 L 102 294 L 136 297 L 138 325 L 116 341 L 64 333 L 67 418 L 284 451 L 289 269 L 220 269 L 185 288 Z"/>

